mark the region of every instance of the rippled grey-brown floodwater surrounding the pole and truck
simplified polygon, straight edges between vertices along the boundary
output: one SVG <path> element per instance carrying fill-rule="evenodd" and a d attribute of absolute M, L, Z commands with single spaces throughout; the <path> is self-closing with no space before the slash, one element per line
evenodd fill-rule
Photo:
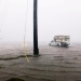
<path fill-rule="evenodd" d="M 69 48 L 39 43 L 38 57 L 32 56 L 33 46 L 27 43 L 29 63 L 23 51 L 23 43 L 0 44 L 1 81 L 13 77 L 25 81 L 81 81 L 80 43 L 72 43 Z"/>

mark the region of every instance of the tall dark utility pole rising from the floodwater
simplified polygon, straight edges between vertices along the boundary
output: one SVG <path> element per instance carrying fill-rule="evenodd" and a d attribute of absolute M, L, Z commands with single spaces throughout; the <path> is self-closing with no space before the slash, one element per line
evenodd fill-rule
<path fill-rule="evenodd" d="M 38 25 L 37 25 L 37 2 L 38 2 L 38 0 L 33 0 L 33 55 L 39 55 Z"/>

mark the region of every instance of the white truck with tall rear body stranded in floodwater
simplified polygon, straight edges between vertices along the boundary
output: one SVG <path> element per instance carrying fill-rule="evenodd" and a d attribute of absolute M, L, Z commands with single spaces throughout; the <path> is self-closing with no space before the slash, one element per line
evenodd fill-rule
<path fill-rule="evenodd" d="M 50 42 L 50 45 L 68 46 L 70 43 L 70 36 L 55 36 Z"/>

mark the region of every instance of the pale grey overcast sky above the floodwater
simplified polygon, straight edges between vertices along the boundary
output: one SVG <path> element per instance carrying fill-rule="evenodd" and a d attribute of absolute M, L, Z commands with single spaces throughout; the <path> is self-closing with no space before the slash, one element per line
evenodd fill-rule
<path fill-rule="evenodd" d="M 0 0 L 1 41 L 23 41 L 27 0 L 11 0 L 10 4 L 9 1 Z M 5 3 L 6 6 L 3 11 Z M 33 40 L 32 19 L 33 0 L 28 0 L 27 42 L 32 42 Z M 69 35 L 71 42 L 81 41 L 81 0 L 38 0 L 39 42 L 49 42 L 56 35 Z"/>

